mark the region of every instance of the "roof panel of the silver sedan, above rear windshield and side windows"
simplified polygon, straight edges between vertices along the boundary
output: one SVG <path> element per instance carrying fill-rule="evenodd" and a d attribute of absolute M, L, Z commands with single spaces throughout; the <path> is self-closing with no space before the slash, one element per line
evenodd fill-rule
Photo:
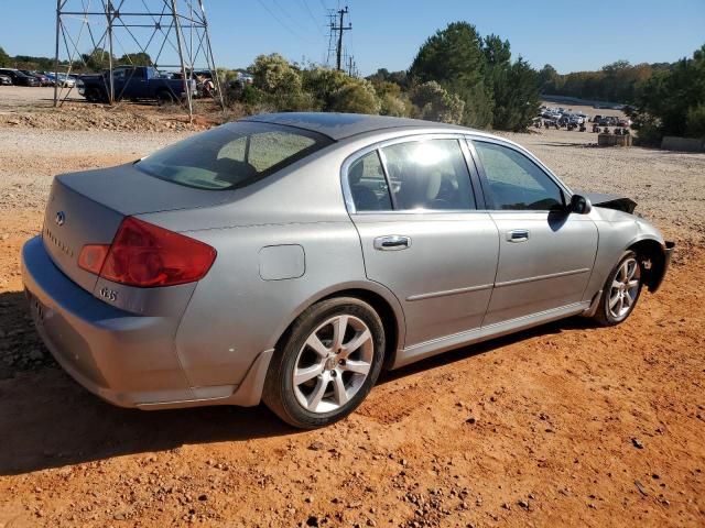
<path fill-rule="evenodd" d="M 362 113 L 334 113 L 334 112 L 285 112 L 264 113 L 245 118 L 243 121 L 260 123 L 283 124 L 299 129 L 318 132 L 332 140 L 340 141 L 352 135 L 368 132 L 384 131 L 390 129 L 433 128 L 448 129 L 452 131 L 465 131 L 470 129 L 455 124 L 436 123 L 421 119 L 392 118 L 389 116 L 367 116 Z"/>

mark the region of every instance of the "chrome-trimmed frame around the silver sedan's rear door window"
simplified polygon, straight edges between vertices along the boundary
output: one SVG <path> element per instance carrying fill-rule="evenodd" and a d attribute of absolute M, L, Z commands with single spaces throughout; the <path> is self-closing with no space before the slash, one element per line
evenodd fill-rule
<path fill-rule="evenodd" d="M 352 190 L 350 189 L 350 183 L 348 182 L 348 170 L 350 166 L 357 162 L 359 158 L 366 156 L 372 151 L 378 151 L 378 156 L 380 157 L 380 162 L 382 164 L 382 170 L 384 172 L 384 179 L 388 182 L 389 197 L 392 202 L 392 207 L 394 205 L 394 198 L 391 193 L 391 188 L 389 187 L 389 179 L 387 175 L 387 165 L 384 154 L 381 148 L 386 146 L 397 145 L 399 143 L 411 143 L 411 142 L 421 142 L 421 141 L 431 141 L 431 140 L 456 140 L 458 142 L 458 147 L 460 148 L 460 153 L 465 157 L 465 152 L 463 151 L 463 142 L 467 139 L 467 134 L 464 132 L 449 132 L 449 133 L 438 133 L 438 132 L 425 132 L 425 133 L 416 133 L 409 135 L 400 135 L 398 138 L 391 138 L 389 140 L 379 141 L 367 145 L 362 148 L 350 154 L 345 158 L 343 165 L 340 165 L 340 185 L 343 187 L 343 198 L 345 200 L 345 207 L 348 210 L 349 215 L 443 215 L 443 213 L 477 213 L 477 212 L 486 212 L 479 209 L 400 209 L 400 210 L 391 210 L 391 211 L 358 211 L 355 207 L 355 200 L 352 199 Z M 467 161 L 466 161 L 467 164 Z M 468 178 L 470 183 L 470 189 L 474 193 L 475 204 L 477 206 L 477 191 L 474 188 L 470 167 L 467 167 Z"/>

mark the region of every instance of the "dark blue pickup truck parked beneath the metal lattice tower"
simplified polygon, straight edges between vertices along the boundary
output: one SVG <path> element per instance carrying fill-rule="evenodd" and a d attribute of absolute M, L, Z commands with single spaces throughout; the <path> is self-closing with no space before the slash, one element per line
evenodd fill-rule
<path fill-rule="evenodd" d="M 90 102 L 108 101 L 110 81 L 109 72 L 99 75 L 84 75 L 77 82 L 78 94 Z M 192 92 L 195 80 L 188 80 Z M 160 105 L 173 102 L 186 97 L 186 81 L 170 79 L 156 69 L 148 66 L 119 66 L 112 70 L 115 99 L 151 99 Z"/>

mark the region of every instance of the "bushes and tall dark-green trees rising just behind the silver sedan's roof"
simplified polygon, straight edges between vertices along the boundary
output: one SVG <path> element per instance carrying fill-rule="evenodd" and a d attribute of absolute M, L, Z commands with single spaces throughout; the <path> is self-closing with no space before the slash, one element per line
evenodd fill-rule
<path fill-rule="evenodd" d="M 524 130 L 539 109 L 538 72 L 512 62 L 508 41 L 455 22 L 421 46 L 406 72 L 379 69 L 359 79 L 318 65 L 261 55 L 253 84 L 230 101 L 246 111 L 337 111 L 413 117 L 499 130 Z"/>

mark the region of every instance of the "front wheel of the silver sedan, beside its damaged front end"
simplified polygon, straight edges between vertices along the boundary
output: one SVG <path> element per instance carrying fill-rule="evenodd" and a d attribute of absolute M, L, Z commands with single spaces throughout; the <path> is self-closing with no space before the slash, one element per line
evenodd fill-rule
<path fill-rule="evenodd" d="M 625 252 L 603 288 L 594 319 L 603 327 L 627 320 L 641 295 L 642 264 L 633 251 Z"/>

